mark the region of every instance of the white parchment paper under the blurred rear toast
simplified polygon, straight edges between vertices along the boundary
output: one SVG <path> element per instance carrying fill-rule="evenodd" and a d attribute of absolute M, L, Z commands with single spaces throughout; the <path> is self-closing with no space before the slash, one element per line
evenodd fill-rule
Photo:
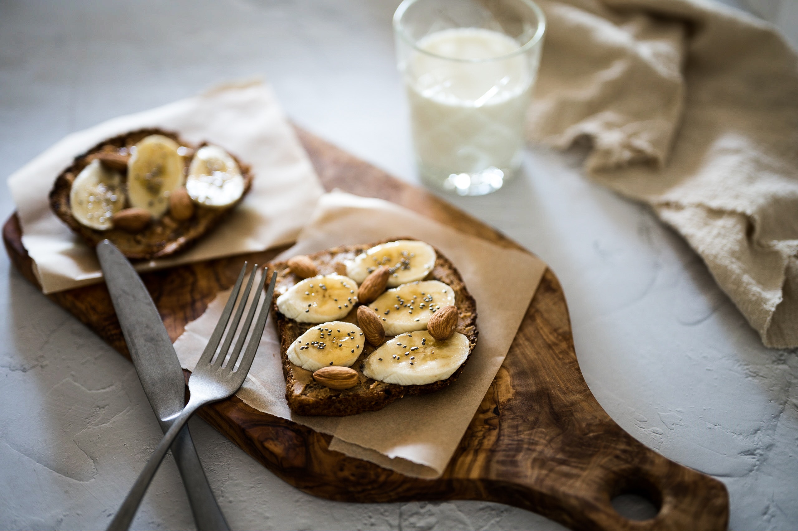
<path fill-rule="evenodd" d="M 195 247 L 174 258 L 136 264 L 139 271 L 288 244 L 324 192 L 274 94 L 259 81 L 223 85 L 72 133 L 8 180 L 22 224 L 22 244 L 45 293 L 102 279 L 94 250 L 50 210 L 47 196 L 53 181 L 78 154 L 105 138 L 143 127 L 176 131 L 187 141 L 210 141 L 229 149 L 251 164 L 255 180 L 231 216 Z"/>

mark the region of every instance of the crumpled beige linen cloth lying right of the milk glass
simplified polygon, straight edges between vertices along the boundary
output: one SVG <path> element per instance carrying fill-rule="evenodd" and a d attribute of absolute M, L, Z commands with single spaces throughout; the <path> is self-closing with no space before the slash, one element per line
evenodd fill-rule
<path fill-rule="evenodd" d="M 645 201 L 768 347 L 798 347 L 798 59 L 701 0 L 539 0 L 531 141 L 587 138 L 587 173 Z"/>

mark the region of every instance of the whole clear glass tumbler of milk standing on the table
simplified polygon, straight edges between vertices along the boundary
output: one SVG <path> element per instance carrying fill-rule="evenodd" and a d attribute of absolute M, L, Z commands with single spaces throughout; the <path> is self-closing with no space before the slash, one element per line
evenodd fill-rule
<path fill-rule="evenodd" d="M 405 0 L 393 29 L 421 178 L 495 192 L 521 165 L 543 12 L 530 0 Z"/>

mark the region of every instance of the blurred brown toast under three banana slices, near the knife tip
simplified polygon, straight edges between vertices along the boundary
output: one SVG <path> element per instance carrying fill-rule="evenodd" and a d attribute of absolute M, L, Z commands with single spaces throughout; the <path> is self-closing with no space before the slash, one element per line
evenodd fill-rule
<path fill-rule="evenodd" d="M 219 225 L 223 219 L 232 212 L 243 197 L 247 195 L 252 185 L 252 172 L 246 164 L 242 164 L 234 155 L 236 164 L 239 164 L 241 174 L 244 178 L 244 192 L 241 198 L 227 208 L 211 208 L 200 204 L 195 204 L 194 216 L 188 220 L 179 221 L 174 219 L 169 212 L 164 217 L 150 224 L 141 232 L 131 234 L 117 228 L 107 231 L 97 231 L 93 228 L 80 224 L 72 215 L 69 207 L 69 192 L 72 189 L 75 177 L 93 160 L 97 153 L 128 153 L 128 150 L 138 141 L 149 135 L 163 135 L 176 141 L 179 145 L 196 150 L 201 145 L 195 146 L 181 140 L 176 133 L 170 133 L 161 129 L 139 129 L 131 133 L 125 133 L 118 137 L 109 138 L 102 141 L 86 153 L 75 157 L 73 163 L 66 168 L 55 180 L 53 189 L 49 193 L 50 208 L 53 209 L 65 224 L 74 232 L 80 235 L 90 247 L 94 248 L 102 240 L 111 240 L 119 250 L 131 260 L 152 260 L 164 256 L 173 255 L 183 251 L 199 238 Z M 188 164 L 191 157 L 184 157 L 184 164 L 188 171 Z M 127 180 L 127 172 L 123 170 L 122 176 Z"/>

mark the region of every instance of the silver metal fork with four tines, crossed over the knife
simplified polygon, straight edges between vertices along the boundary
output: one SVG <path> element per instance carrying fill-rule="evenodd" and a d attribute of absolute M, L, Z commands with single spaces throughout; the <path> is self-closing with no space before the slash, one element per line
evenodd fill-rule
<path fill-rule="evenodd" d="M 222 335 L 227 328 L 227 321 L 230 320 L 230 315 L 233 312 L 235 300 L 238 299 L 241 284 L 243 283 L 244 272 L 247 270 L 247 264 L 244 263 L 244 266 L 241 268 L 241 273 L 239 274 L 238 280 L 235 281 L 230 299 L 227 299 L 227 304 L 224 307 L 222 316 L 219 318 L 219 323 L 216 325 L 211 339 L 208 340 L 205 351 L 203 351 L 202 356 L 200 356 L 196 367 L 194 367 L 191 378 L 188 379 L 188 390 L 191 391 L 191 398 L 188 399 L 188 404 L 186 404 L 184 410 L 181 411 L 180 414 L 175 416 L 172 426 L 166 434 L 164 434 L 164 438 L 161 439 L 156 450 L 152 452 L 147 464 L 144 466 L 144 470 L 141 471 L 141 474 L 139 474 L 139 477 L 136 479 L 136 483 L 134 483 L 132 489 L 130 489 L 128 497 L 124 498 L 124 502 L 120 506 L 117 516 L 113 517 L 111 525 L 108 526 L 109 531 L 126 531 L 126 529 L 128 529 L 133 516 L 136 514 L 136 509 L 139 508 L 141 498 L 144 497 L 144 493 L 147 492 L 147 487 L 160 466 L 160 462 L 164 460 L 169 446 L 172 446 L 172 442 L 177 437 L 177 434 L 180 433 L 180 429 L 188 422 L 192 414 L 207 403 L 216 402 L 231 396 L 231 394 L 239 390 L 239 387 L 244 382 L 244 378 L 247 377 L 247 373 L 252 366 L 252 360 L 255 359 L 255 351 L 258 350 L 260 338 L 263 335 L 263 327 L 266 326 L 266 319 L 271 309 L 271 298 L 272 295 L 274 295 L 275 283 L 277 281 L 277 274 L 275 273 L 271 276 L 269 291 L 267 292 L 266 299 L 263 300 L 258 320 L 255 323 L 255 327 L 251 330 L 251 337 L 249 343 L 247 343 L 247 350 L 244 351 L 241 363 L 239 363 L 239 367 L 236 369 L 235 363 L 238 361 L 244 341 L 247 339 L 247 333 L 250 331 L 252 319 L 255 317 L 258 301 L 263 291 L 263 285 L 266 283 L 267 271 L 264 267 L 263 274 L 260 276 L 258 290 L 255 291 L 250 311 L 247 313 L 247 319 L 244 320 L 238 340 L 235 342 L 235 347 L 230 351 L 235 331 L 238 330 L 239 321 L 243 315 L 244 307 L 247 305 L 247 299 L 249 299 L 250 289 L 255 279 L 255 272 L 257 269 L 258 265 L 255 264 L 255 267 L 252 267 L 252 273 L 249 281 L 247 281 L 247 287 L 244 289 L 241 302 L 235 311 L 235 316 L 227 331 L 224 343 L 222 343 L 222 348 L 219 349 L 219 355 L 216 355 L 214 358 L 216 348 L 219 347 L 219 342 L 222 340 Z M 229 358 L 227 356 L 228 353 L 230 354 Z M 224 363 L 225 359 L 227 359 L 227 363 Z"/>

